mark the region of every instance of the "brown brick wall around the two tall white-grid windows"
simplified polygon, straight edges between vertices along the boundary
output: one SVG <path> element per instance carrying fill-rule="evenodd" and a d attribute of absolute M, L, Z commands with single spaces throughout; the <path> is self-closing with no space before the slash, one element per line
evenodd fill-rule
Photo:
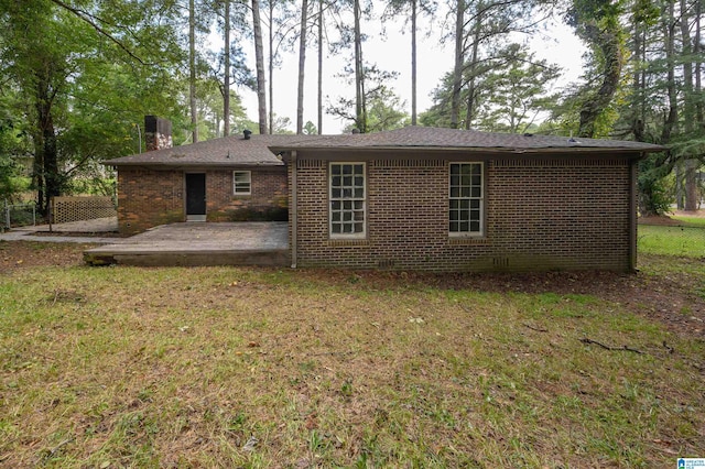
<path fill-rule="evenodd" d="M 344 241 L 328 238 L 328 163 L 301 157 L 297 265 L 431 271 L 629 269 L 627 160 L 487 160 L 486 236 L 479 239 L 448 237 L 448 163 L 368 161 L 367 237 Z"/>

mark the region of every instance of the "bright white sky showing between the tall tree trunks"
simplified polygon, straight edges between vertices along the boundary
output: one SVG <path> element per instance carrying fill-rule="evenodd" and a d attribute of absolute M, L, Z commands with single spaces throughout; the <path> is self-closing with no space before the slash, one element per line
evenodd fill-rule
<path fill-rule="evenodd" d="M 377 64 L 384 70 L 394 70 L 399 77 L 389 85 L 406 103 L 406 111 L 411 114 L 411 33 L 403 21 L 387 21 L 387 37 L 380 37 L 381 21 L 379 18 L 362 22 L 362 30 L 369 35 L 362 45 L 364 59 L 370 64 Z M 454 43 L 442 43 L 441 25 L 438 20 L 433 24 L 431 35 L 425 35 L 430 29 L 429 20 L 421 19 L 417 35 L 417 111 L 429 109 L 433 105 L 432 91 L 438 86 L 443 76 L 453 68 Z M 521 41 L 521 37 L 517 37 Z M 545 58 L 563 68 L 564 75 L 555 87 L 562 88 L 577 81 L 582 75 L 583 53 L 585 46 L 575 36 L 573 31 L 558 20 L 549 22 L 545 31 L 536 35 L 530 42 L 531 48 L 538 58 Z M 253 45 L 251 45 L 253 48 Z M 254 51 L 245 50 L 248 65 L 254 69 Z M 304 89 L 304 123 L 312 121 L 317 123 L 317 48 L 312 46 L 306 52 L 305 89 Z M 265 57 L 267 61 L 267 57 Z M 340 133 L 349 123 L 334 116 L 327 116 L 325 108 L 329 102 L 335 102 L 338 96 L 354 98 L 355 88 L 347 85 L 338 75 L 346 64 L 352 62 L 351 51 L 344 51 L 333 56 L 324 51 L 324 117 L 323 133 Z M 282 64 L 274 69 L 274 112 L 278 117 L 289 117 L 295 130 L 296 124 L 296 87 L 299 75 L 299 53 L 296 51 L 285 53 Z M 257 94 L 252 90 L 240 88 L 237 90 L 242 97 L 242 103 L 248 117 L 256 121 Z M 269 96 L 268 96 L 269 100 Z M 268 101 L 269 108 L 269 101 Z"/>

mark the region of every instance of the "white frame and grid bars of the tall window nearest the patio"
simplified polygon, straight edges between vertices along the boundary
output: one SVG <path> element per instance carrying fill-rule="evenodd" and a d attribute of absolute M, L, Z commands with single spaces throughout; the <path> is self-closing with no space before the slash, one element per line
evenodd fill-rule
<path fill-rule="evenodd" d="M 334 175 L 334 167 L 340 166 L 340 174 Z M 340 184 L 334 187 L 333 183 L 336 177 L 345 177 L 343 174 L 345 166 L 352 166 L 351 184 Z M 355 166 L 361 166 L 362 173 L 355 174 Z M 356 178 L 362 177 L 362 186 L 356 183 Z M 361 196 L 356 189 L 362 190 Z M 346 190 L 351 190 L 349 196 L 345 196 Z M 334 196 L 335 194 L 335 196 Z M 336 204 L 337 203 L 337 204 Z M 349 205 L 349 208 L 344 208 Z M 336 206 L 338 208 L 336 208 Z M 337 216 L 336 216 L 337 214 Z M 345 219 L 349 216 L 349 219 Z M 356 220 L 356 216 L 361 216 L 361 220 Z M 360 225 L 361 231 L 351 232 L 334 232 L 334 226 L 351 225 L 355 230 L 356 225 Z M 367 164 L 362 162 L 330 162 L 328 164 L 328 233 L 330 239 L 365 239 L 367 238 Z"/>

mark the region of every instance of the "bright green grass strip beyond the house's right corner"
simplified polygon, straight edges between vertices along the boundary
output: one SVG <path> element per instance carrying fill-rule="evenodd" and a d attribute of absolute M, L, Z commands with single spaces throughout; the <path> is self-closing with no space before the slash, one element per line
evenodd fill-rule
<path fill-rule="evenodd" d="M 638 249 L 644 254 L 703 258 L 705 227 L 639 225 Z"/>

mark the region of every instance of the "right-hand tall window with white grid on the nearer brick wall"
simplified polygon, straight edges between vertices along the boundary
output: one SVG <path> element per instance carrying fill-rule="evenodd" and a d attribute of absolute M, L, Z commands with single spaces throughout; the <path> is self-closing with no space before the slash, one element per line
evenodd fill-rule
<path fill-rule="evenodd" d="M 451 236 L 481 236 L 482 205 L 482 163 L 451 163 Z"/>

